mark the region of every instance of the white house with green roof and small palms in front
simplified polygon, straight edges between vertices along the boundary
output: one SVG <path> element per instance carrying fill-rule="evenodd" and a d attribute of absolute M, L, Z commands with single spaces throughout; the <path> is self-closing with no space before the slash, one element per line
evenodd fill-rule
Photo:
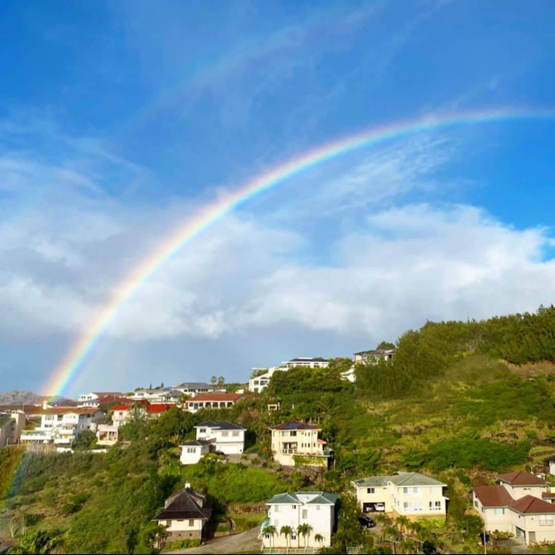
<path fill-rule="evenodd" d="M 331 546 L 331 536 L 335 528 L 337 496 L 325 491 L 297 491 L 280 493 L 266 503 L 268 518 L 260 527 L 264 548 L 322 548 Z M 302 524 L 308 524 L 305 536 L 299 531 Z M 273 526 L 275 534 L 265 532 Z M 282 526 L 289 526 L 292 534 L 280 534 Z M 316 541 L 319 536 L 319 541 Z"/>

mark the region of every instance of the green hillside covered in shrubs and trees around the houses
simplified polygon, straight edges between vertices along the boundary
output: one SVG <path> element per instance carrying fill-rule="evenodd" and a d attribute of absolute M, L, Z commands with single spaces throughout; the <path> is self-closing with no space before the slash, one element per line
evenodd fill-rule
<path fill-rule="evenodd" d="M 31 531 L 57 538 L 59 552 L 152 552 L 149 519 L 187 481 L 213 499 L 217 519 L 242 526 L 260 522 L 261 513 L 245 513 L 274 493 L 317 487 L 342 495 L 337 552 L 366 541 L 349 519 L 350 481 L 418 470 L 448 484 L 447 522 L 427 524 L 443 551 L 479 552 L 470 487 L 493 483 L 497 472 L 545 470 L 555 454 L 553 349 L 553 307 L 483 322 L 427 322 L 400 337 L 392 362 L 357 366 L 356 384 L 339 379 L 351 362 L 336 359 L 327 369 L 278 371 L 261 395 L 226 410 L 173 408 L 158 421 L 129 423 L 128 448 L 106 455 L 89 453 L 85 442 L 74 455 L 3 450 L 0 536 L 9 537 L 8 522 L 24 514 Z M 270 398 L 279 398 L 279 412 L 268 412 Z M 321 424 L 335 451 L 330 471 L 291 472 L 271 461 L 268 426 L 289 418 Z M 221 419 L 248 428 L 248 451 L 258 457 L 250 465 L 209 458 L 180 466 L 176 446 L 193 437 L 195 423 Z"/>

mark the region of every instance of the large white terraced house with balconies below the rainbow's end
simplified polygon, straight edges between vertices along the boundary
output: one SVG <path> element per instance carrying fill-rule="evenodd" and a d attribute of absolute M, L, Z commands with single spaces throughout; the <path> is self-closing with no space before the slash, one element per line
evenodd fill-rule
<path fill-rule="evenodd" d="M 41 409 L 41 425 L 23 430 L 21 442 L 71 445 L 85 430 L 95 431 L 104 413 L 94 407 L 56 407 Z"/>

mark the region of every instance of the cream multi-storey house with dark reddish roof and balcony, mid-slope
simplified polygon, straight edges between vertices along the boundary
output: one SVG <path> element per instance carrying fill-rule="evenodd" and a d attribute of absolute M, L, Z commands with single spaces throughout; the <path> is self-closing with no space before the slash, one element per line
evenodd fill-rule
<path fill-rule="evenodd" d="M 270 426 L 274 460 L 283 466 L 329 467 L 333 451 L 318 437 L 321 428 L 298 420 Z"/>

